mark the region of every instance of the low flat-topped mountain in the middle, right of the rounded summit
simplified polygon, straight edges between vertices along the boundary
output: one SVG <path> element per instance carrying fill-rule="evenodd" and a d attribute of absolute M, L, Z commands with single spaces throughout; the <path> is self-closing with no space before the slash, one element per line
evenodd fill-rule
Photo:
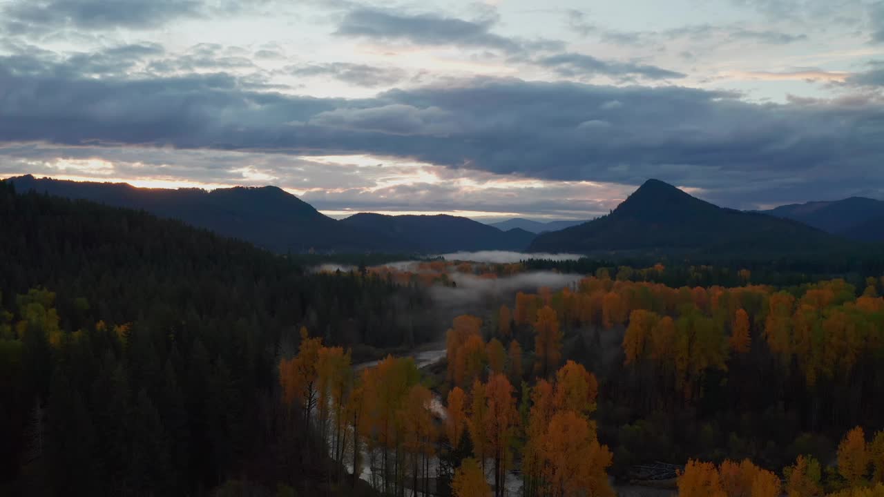
<path fill-rule="evenodd" d="M 534 233 L 514 228 L 501 231 L 469 218 L 447 216 L 385 216 L 361 213 L 341 220 L 347 226 L 383 233 L 418 250 L 432 253 L 459 250 L 514 250 L 528 248 Z"/>

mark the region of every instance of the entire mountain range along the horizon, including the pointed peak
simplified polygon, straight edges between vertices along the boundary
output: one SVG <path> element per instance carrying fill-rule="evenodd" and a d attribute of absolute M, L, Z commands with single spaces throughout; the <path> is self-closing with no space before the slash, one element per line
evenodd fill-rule
<path fill-rule="evenodd" d="M 845 253 L 857 245 L 847 238 L 884 241 L 884 202 L 854 197 L 744 212 L 720 208 L 659 180 L 646 181 L 611 214 L 592 221 L 575 225 L 516 218 L 493 226 L 446 215 L 361 213 L 336 220 L 278 187 L 206 191 L 30 175 L 10 180 L 19 190 L 146 210 L 277 252 L 793 256 Z M 566 224 L 575 226 L 551 231 Z"/>

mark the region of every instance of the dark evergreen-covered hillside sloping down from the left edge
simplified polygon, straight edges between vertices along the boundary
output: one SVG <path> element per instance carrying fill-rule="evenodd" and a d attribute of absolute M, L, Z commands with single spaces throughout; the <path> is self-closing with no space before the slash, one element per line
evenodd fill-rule
<path fill-rule="evenodd" d="M 331 468 L 282 424 L 298 328 L 341 346 L 438 333 L 417 288 L 7 182 L 0 240 L 0 493 L 203 494 L 234 476 L 325 493 Z"/>

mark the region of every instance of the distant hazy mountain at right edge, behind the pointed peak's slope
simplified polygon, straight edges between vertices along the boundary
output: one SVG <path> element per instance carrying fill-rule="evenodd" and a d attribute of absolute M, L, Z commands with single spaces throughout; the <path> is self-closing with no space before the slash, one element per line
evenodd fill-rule
<path fill-rule="evenodd" d="M 857 228 L 875 218 L 884 218 L 884 202 L 854 196 L 832 202 L 792 203 L 761 212 L 778 218 L 795 219 L 828 233 L 866 240 L 868 234 Z M 876 226 L 882 226 L 880 221 Z"/>

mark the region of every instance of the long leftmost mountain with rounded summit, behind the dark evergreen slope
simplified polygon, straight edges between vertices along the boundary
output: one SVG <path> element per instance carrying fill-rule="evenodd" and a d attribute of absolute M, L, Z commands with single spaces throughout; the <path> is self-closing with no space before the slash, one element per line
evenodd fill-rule
<path fill-rule="evenodd" d="M 309 203 L 278 187 L 139 188 L 127 183 L 98 183 L 27 175 L 11 178 L 21 192 L 35 190 L 116 207 L 147 210 L 157 216 L 225 236 L 250 241 L 277 252 L 411 251 L 402 241 L 368 233 L 329 218 Z"/>

